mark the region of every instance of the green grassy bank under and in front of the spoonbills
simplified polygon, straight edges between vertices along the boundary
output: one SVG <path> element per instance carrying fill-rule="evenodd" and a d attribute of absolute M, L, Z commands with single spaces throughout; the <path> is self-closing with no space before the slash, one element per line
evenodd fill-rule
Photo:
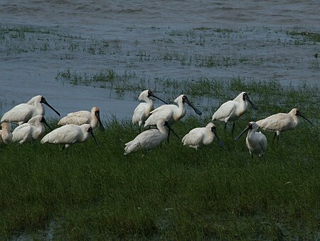
<path fill-rule="evenodd" d="M 233 141 L 230 129 L 223 132 L 223 123 L 216 123 L 223 149 L 214 142 L 196 151 L 171 136 L 149 153 L 124 156 L 124 143 L 139 131 L 117 119 L 95 132 L 100 149 L 92 139 L 68 154 L 39 141 L 1 146 L 1 239 L 319 238 L 319 91 L 288 87 L 281 95 L 277 82 L 220 85 L 230 97 L 236 89 L 250 91 L 259 107 L 239 120 L 234 135 L 252 119 L 292 107 L 314 127 L 302 119 L 276 144 L 265 133 L 269 146 L 261 161 L 250 158 L 244 136 Z M 226 95 L 218 95 L 220 102 Z M 213 109 L 185 117 L 175 131 L 182 138 L 204 126 Z"/>

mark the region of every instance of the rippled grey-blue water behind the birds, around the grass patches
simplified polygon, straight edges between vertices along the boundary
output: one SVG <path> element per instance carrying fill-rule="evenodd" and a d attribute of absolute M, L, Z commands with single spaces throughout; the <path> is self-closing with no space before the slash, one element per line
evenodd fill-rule
<path fill-rule="evenodd" d="M 56 80 L 57 73 L 66 68 L 88 73 L 97 73 L 102 68 L 119 73 L 134 71 L 137 76 L 150 78 L 277 79 L 284 85 L 301 82 L 314 85 L 319 81 L 319 60 L 314 57 L 320 52 L 319 42 L 296 43 L 287 34 L 287 31 L 320 32 L 319 1 L 2 0 L 0 20 L 1 28 L 53 29 L 80 36 L 83 45 L 97 39 L 111 46 L 111 54 L 75 52 L 54 48 L 57 43 L 64 43 L 49 36 L 50 50 L 19 53 L 9 48 L 23 45 L 1 41 L 0 114 L 34 95 L 43 95 L 62 116 L 97 106 L 103 119 L 131 117 L 139 92 L 118 95 L 114 90 L 73 86 Z M 209 30 L 198 34 L 193 31 L 195 28 Z M 213 34 L 210 28 L 229 32 Z M 42 43 L 42 38 L 45 37 L 32 39 L 25 48 L 31 48 L 33 41 Z M 190 61 L 210 55 L 247 61 L 241 65 L 203 68 L 197 64 L 182 65 L 181 61 L 164 61 L 163 56 L 168 54 Z M 160 97 L 166 97 L 163 94 Z M 48 108 L 46 115 L 56 117 Z"/>

